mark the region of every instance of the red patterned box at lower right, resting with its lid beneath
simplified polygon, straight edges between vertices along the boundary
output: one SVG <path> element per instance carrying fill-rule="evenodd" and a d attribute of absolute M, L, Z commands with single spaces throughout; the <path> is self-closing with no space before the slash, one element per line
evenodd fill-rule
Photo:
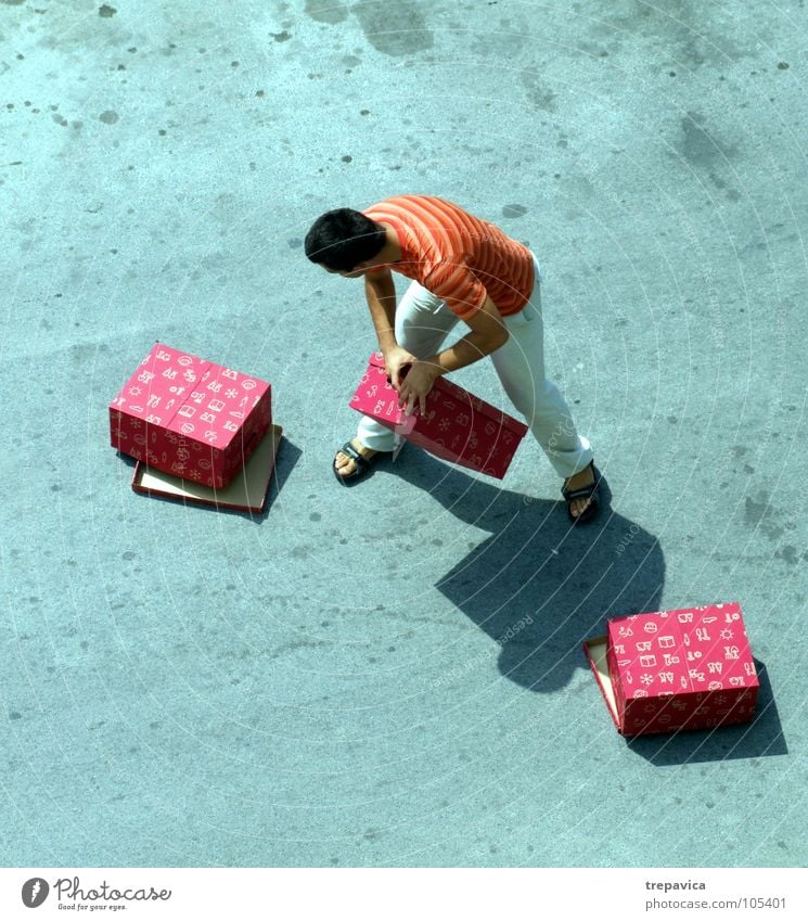
<path fill-rule="evenodd" d="M 607 630 L 585 651 L 623 735 L 753 718 L 759 683 L 740 604 L 617 617 Z"/>

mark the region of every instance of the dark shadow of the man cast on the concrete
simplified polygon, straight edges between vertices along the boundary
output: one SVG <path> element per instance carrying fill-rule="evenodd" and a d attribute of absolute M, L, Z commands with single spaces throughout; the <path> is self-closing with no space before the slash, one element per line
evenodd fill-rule
<path fill-rule="evenodd" d="M 490 532 L 437 588 L 498 643 L 499 669 L 512 681 L 555 691 L 588 668 L 581 644 L 605 631 L 607 617 L 658 610 L 659 545 L 608 508 L 606 486 L 600 516 L 575 527 L 562 502 L 509 491 L 424 452 L 402 455 L 396 474 Z"/>

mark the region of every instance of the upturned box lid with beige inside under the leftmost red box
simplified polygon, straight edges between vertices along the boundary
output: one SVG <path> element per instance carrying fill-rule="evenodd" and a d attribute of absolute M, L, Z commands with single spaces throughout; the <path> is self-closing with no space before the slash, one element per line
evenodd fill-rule
<path fill-rule="evenodd" d="M 146 466 L 142 462 L 134 468 L 132 489 L 150 496 L 216 506 L 219 509 L 261 512 L 267 503 L 269 483 L 282 434 L 280 425 L 271 425 L 249 460 L 223 489 L 202 486 L 191 479 L 182 479 Z"/>

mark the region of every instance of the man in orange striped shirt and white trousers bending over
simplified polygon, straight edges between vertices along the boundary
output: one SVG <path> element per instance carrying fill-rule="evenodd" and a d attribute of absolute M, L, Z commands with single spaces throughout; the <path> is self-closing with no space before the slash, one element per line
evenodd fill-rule
<path fill-rule="evenodd" d="M 540 273 L 529 250 L 443 199 L 399 195 L 364 212 L 322 215 L 306 235 L 306 255 L 329 272 L 364 279 L 379 348 L 408 413 L 425 411 L 438 376 L 490 355 L 505 393 L 564 478 L 569 517 L 593 517 L 599 474 L 589 442 L 544 376 Z M 393 272 L 412 279 L 398 307 Z M 441 350 L 459 320 L 470 332 Z M 379 451 L 394 447 L 394 433 L 363 417 L 356 438 L 334 458 L 334 473 L 352 485 Z"/>

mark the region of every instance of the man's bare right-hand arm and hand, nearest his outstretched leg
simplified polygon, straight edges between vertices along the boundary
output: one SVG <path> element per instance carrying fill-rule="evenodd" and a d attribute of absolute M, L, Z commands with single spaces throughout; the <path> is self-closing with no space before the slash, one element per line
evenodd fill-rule
<path fill-rule="evenodd" d="M 465 322 L 471 332 L 463 338 L 438 355 L 415 361 L 410 368 L 398 391 L 399 406 L 406 406 L 407 413 L 415 406 L 426 412 L 426 396 L 441 374 L 473 364 L 508 342 L 504 320 L 490 297 L 486 297 L 480 309 Z"/>

